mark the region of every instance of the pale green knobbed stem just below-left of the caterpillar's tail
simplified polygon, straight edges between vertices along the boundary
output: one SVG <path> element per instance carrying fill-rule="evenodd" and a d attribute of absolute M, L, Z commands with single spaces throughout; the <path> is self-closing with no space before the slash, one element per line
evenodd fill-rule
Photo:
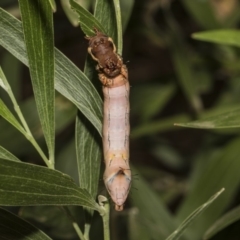
<path fill-rule="evenodd" d="M 110 240 L 110 231 L 109 231 L 109 215 L 110 215 L 110 204 L 106 197 L 99 195 L 98 196 L 99 205 L 102 208 L 100 215 L 103 219 L 103 234 L 104 240 Z"/>

